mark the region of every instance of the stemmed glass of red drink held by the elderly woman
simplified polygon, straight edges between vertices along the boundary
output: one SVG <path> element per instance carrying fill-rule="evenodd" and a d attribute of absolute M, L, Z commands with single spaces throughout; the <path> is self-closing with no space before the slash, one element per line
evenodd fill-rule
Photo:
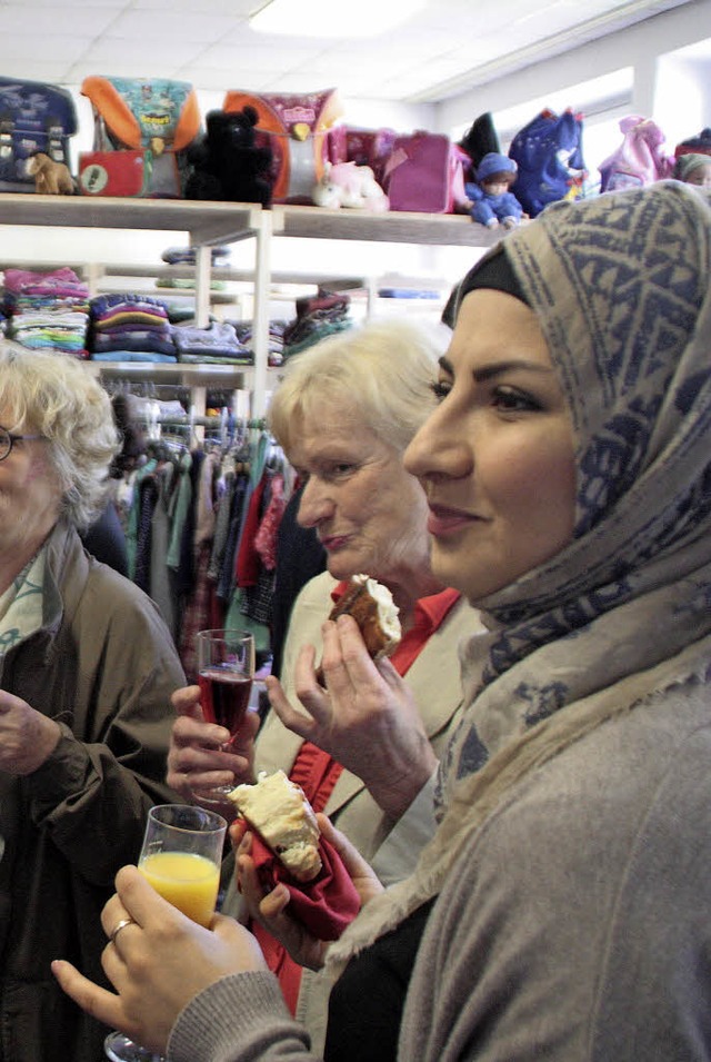
<path fill-rule="evenodd" d="M 254 637 L 247 631 L 229 628 L 199 631 L 196 637 L 202 714 L 206 722 L 230 732 L 230 740 L 222 745 L 229 752 L 249 707 L 254 681 Z M 212 786 L 196 796 L 202 803 L 223 803 L 231 788 Z"/>

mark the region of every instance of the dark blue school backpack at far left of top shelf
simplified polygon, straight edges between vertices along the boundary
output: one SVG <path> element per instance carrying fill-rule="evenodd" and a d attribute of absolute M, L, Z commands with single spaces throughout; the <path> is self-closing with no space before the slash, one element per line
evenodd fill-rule
<path fill-rule="evenodd" d="M 76 132 L 74 101 L 67 89 L 0 78 L 0 191 L 34 191 L 27 162 L 39 151 L 69 167 L 69 140 Z"/>

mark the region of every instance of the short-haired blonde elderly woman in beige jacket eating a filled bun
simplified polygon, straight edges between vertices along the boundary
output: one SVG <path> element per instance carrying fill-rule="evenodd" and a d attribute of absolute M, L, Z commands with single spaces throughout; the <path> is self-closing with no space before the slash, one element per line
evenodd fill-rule
<path fill-rule="evenodd" d="M 402 455 L 434 408 L 431 381 L 443 348 L 438 334 L 401 319 L 372 320 L 317 344 L 291 359 L 269 410 L 272 433 L 304 480 L 298 520 L 324 547 L 328 570 L 297 598 L 281 668 L 269 679 L 274 711 L 244 760 L 217 751 L 218 727 L 187 715 L 176 722 L 168 781 L 186 798 L 204 786 L 250 781 L 283 770 L 302 786 L 375 867 L 385 883 L 410 873 L 434 831 L 432 786 L 437 757 L 463 705 L 457 648 L 477 629 L 462 596 L 432 575 L 427 499 L 404 470 Z M 342 727 L 321 727 L 299 672 L 320 658 L 321 628 L 347 580 L 365 573 L 387 586 L 403 636 L 390 659 L 351 688 Z M 323 661 L 327 684 L 333 675 Z M 391 711 L 387 691 L 402 693 Z M 411 693 L 410 693 L 411 691 Z M 178 691 L 180 712 L 199 715 L 196 686 Z M 307 711 L 304 711 L 304 708 Z M 286 725 L 284 725 L 286 724 Z M 216 741 L 217 738 L 217 741 Z M 397 740 L 395 740 L 397 738 Z M 343 770 L 341 753 L 359 750 Z M 233 805 L 228 807 L 234 814 Z M 227 811 L 226 811 L 227 813 Z M 222 910 L 237 913 L 230 882 Z M 302 970 L 254 924 L 289 1004 L 314 1043 L 326 1026 L 329 983 Z"/>

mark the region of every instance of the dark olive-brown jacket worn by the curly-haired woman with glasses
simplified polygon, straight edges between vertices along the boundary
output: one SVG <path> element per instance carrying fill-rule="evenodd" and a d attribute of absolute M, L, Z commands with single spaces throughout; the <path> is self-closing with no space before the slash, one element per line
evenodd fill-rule
<path fill-rule="evenodd" d="M 152 602 L 58 525 L 41 629 L 4 657 L 1 686 L 57 719 L 62 737 L 33 774 L 0 773 L 0 1059 L 98 1062 L 107 1030 L 57 986 L 52 959 L 106 983 L 99 916 L 136 862 L 163 784 L 183 684 Z"/>

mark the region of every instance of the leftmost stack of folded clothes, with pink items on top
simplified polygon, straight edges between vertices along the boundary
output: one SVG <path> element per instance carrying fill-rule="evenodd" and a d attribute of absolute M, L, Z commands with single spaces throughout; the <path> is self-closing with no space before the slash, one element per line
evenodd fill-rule
<path fill-rule="evenodd" d="M 4 271 L 6 334 L 31 350 L 88 357 L 89 288 L 69 267 Z"/>

